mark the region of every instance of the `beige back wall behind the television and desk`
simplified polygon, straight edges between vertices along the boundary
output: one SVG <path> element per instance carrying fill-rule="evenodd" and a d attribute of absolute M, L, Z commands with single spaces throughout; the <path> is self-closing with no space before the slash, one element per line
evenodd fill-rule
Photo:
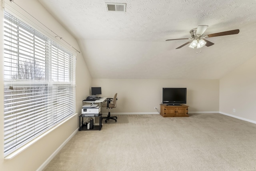
<path fill-rule="evenodd" d="M 219 111 L 219 80 L 92 79 L 92 86 L 102 87 L 102 97 L 118 93 L 112 113 L 156 113 L 163 87 L 186 87 L 189 112 Z"/>

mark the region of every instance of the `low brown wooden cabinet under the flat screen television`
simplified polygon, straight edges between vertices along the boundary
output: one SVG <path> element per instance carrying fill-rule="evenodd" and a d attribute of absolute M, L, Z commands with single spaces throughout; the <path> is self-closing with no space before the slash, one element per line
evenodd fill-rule
<path fill-rule="evenodd" d="M 160 104 L 160 115 L 163 117 L 189 117 L 187 105 L 166 105 Z"/>

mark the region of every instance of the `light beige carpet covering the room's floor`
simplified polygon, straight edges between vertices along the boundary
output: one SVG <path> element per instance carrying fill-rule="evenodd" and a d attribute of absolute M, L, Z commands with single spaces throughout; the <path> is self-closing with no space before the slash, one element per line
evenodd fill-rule
<path fill-rule="evenodd" d="M 44 171 L 256 170 L 254 123 L 219 113 L 118 115 L 118 121 L 78 131 Z"/>

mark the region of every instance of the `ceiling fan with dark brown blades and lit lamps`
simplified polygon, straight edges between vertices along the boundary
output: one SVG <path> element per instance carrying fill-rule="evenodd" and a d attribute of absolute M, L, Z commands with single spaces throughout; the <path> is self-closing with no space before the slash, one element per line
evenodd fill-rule
<path fill-rule="evenodd" d="M 239 29 L 236 29 L 236 30 L 213 33 L 213 34 L 208 34 L 208 35 L 203 36 L 203 34 L 207 28 L 208 28 L 208 26 L 206 26 L 206 25 L 199 25 L 197 28 L 190 30 L 190 34 L 191 34 L 192 38 L 168 39 L 166 41 L 188 39 L 188 40 L 190 40 L 189 42 L 186 42 L 185 44 L 179 46 L 176 49 L 182 48 L 183 46 L 185 46 L 189 43 L 190 43 L 190 45 L 188 47 L 190 47 L 190 48 L 202 48 L 204 45 L 207 47 L 214 45 L 214 43 L 206 40 L 205 38 L 211 38 L 211 37 L 216 37 L 216 36 L 226 36 L 226 35 L 239 33 Z"/>

